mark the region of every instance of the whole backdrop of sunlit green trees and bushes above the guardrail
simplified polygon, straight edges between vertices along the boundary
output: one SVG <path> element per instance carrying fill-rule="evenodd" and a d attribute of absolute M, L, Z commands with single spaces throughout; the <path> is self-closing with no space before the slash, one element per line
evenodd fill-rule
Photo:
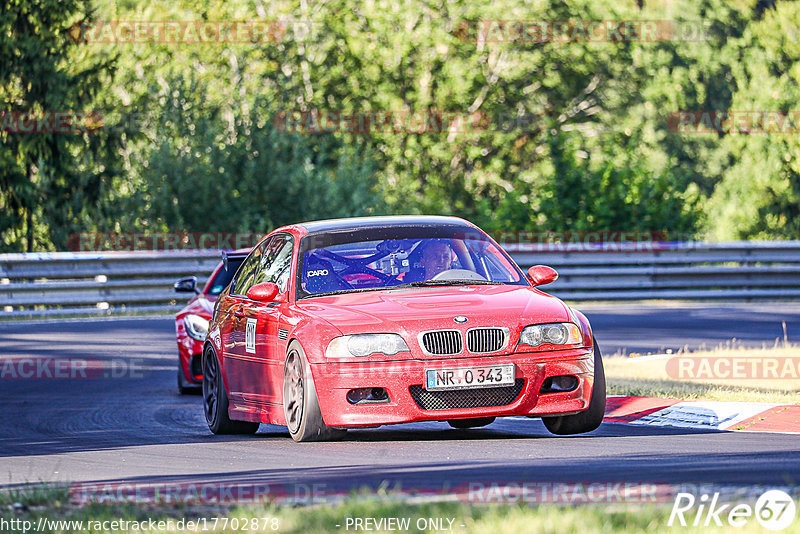
<path fill-rule="evenodd" d="M 98 20 L 287 24 L 257 44 L 80 42 L 76 28 Z M 469 20 L 681 31 L 483 42 Z M 0 110 L 95 110 L 102 127 L 0 132 L 0 251 L 64 249 L 75 232 L 267 232 L 389 213 L 455 214 L 492 232 L 798 238 L 796 130 L 687 134 L 669 122 L 678 110 L 792 111 L 798 58 L 790 1 L 4 0 Z M 287 110 L 489 123 L 310 134 L 276 127 Z"/>

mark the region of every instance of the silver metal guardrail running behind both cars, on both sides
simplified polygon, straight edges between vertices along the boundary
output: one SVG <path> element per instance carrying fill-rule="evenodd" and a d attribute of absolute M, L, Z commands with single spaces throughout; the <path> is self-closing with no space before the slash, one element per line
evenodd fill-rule
<path fill-rule="evenodd" d="M 800 241 L 510 244 L 523 268 L 555 267 L 547 292 L 566 300 L 800 298 Z M 0 254 L 0 319 L 174 312 L 205 282 L 216 250 Z"/>

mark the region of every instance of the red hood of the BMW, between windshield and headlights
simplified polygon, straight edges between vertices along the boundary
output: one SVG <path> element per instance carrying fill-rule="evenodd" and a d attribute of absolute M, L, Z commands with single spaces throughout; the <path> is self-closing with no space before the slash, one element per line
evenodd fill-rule
<path fill-rule="evenodd" d="M 298 302 L 343 334 L 397 332 L 416 335 L 439 329 L 507 327 L 512 332 L 537 323 L 569 321 L 559 299 L 529 286 L 423 287 L 316 297 Z M 467 318 L 459 324 L 457 316 Z"/>

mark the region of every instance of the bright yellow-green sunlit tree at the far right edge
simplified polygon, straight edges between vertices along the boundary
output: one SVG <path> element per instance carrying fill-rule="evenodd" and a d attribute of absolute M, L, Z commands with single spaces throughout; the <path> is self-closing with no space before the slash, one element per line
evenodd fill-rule
<path fill-rule="evenodd" d="M 800 5 L 775 2 L 735 44 L 734 111 L 763 111 L 764 133 L 721 136 L 730 164 L 708 203 L 716 239 L 800 239 Z M 793 117 L 780 119 L 780 112 Z M 780 122 L 778 122 L 780 121 Z"/>

